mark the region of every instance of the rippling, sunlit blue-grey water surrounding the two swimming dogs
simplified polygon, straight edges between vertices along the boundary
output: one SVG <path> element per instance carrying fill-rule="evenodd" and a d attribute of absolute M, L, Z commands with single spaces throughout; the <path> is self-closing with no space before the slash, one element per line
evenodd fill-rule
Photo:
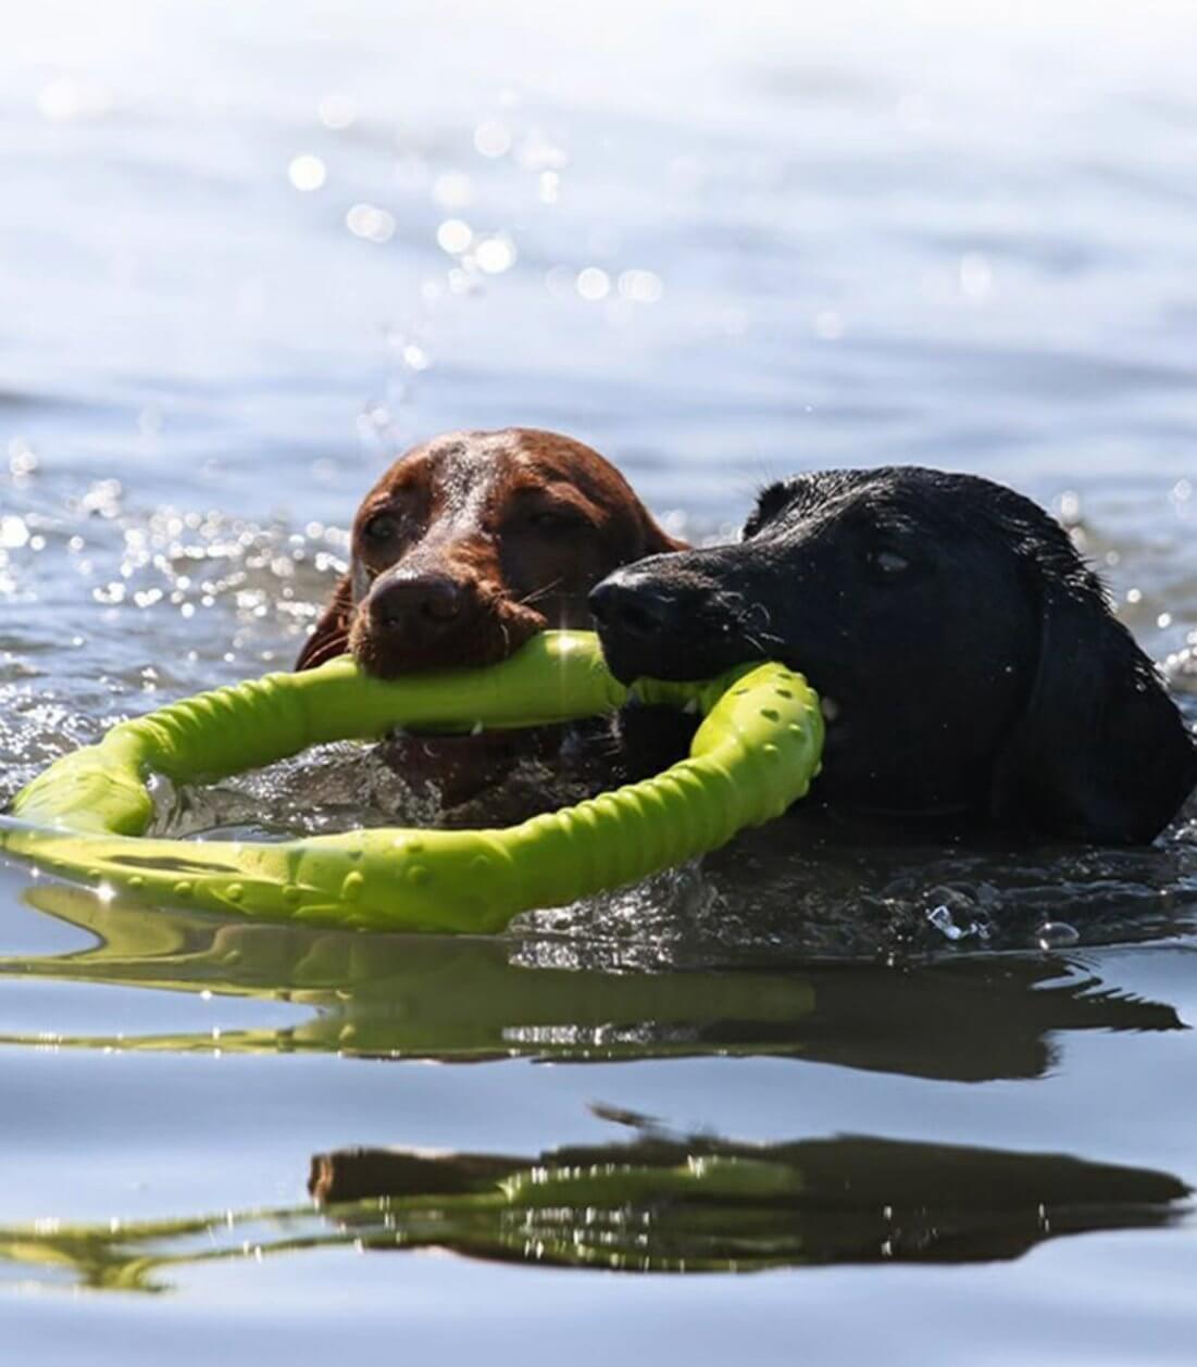
<path fill-rule="evenodd" d="M 0 797 L 287 664 L 387 454 L 508 422 L 696 537 L 1015 484 L 1197 716 L 1197 21 L 1007 8 L 7 14 Z M 368 766 L 175 819 L 382 819 Z M 8 1351 L 1187 1362 L 1194 831 L 755 837 L 498 940 L 0 865 Z"/>

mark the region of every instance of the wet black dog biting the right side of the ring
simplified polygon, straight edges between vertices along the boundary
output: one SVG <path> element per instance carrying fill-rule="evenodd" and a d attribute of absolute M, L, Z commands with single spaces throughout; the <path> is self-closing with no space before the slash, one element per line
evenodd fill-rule
<path fill-rule="evenodd" d="M 591 608 L 625 681 L 802 670 L 832 807 L 1134 843 L 1197 783 L 1179 712 L 1067 533 L 974 476 L 773 484 L 739 544 L 621 569 Z"/>

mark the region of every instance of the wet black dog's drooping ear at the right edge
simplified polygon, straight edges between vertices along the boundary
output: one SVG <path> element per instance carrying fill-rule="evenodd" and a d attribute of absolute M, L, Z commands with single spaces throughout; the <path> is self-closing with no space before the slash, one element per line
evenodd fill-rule
<path fill-rule="evenodd" d="M 1075 552 L 1063 573 L 1037 577 L 1038 667 L 999 756 L 995 816 L 1070 839 L 1145 843 L 1197 783 L 1197 750 Z"/>

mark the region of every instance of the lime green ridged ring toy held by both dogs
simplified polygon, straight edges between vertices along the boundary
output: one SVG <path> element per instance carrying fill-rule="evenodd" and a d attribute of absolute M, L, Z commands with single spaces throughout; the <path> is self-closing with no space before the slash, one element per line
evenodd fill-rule
<path fill-rule="evenodd" d="M 395 726 L 540 726 L 632 694 L 696 704 L 688 759 L 506 830 L 361 830 L 287 842 L 144 839 L 150 772 L 222 778 Z M 0 849 L 138 899 L 389 931 L 498 931 L 520 912 L 636 882 L 780 816 L 818 771 L 822 715 L 800 674 L 741 666 L 625 689 L 598 638 L 547 632 L 482 670 L 382 681 L 352 659 L 201 693 L 55 761 L 0 817 Z"/>

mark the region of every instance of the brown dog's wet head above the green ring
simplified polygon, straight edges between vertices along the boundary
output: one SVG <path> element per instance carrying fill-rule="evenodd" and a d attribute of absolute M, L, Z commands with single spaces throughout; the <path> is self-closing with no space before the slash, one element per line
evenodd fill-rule
<path fill-rule="evenodd" d="M 297 670 L 350 649 L 372 674 L 491 664 L 587 595 L 680 550 L 596 451 L 553 432 L 454 432 L 401 457 L 363 500 L 349 573 Z"/>

